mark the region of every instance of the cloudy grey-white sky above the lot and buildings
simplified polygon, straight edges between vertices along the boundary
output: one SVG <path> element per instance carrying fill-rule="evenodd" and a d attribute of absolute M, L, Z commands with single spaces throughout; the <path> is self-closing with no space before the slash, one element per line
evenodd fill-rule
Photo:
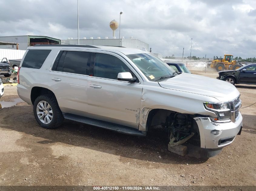
<path fill-rule="evenodd" d="M 0 0 L 0 36 L 77 38 L 77 0 Z M 142 40 L 164 56 L 256 57 L 255 0 L 79 0 L 82 37 L 121 36 Z M 119 30 L 116 31 L 117 38 Z M 223 56 L 222 56 L 223 57 Z"/>

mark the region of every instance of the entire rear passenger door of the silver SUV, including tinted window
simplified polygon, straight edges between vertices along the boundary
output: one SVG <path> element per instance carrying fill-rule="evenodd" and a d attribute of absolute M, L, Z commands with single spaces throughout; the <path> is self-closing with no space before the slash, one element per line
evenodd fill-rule
<path fill-rule="evenodd" d="M 87 115 L 88 63 L 91 53 L 84 51 L 60 51 L 50 78 L 52 88 L 64 113 Z"/>

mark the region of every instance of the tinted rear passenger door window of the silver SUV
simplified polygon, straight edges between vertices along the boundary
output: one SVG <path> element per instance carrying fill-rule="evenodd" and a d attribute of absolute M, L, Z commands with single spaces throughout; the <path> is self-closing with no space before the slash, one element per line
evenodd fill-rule
<path fill-rule="evenodd" d="M 89 52 L 62 51 L 57 56 L 52 70 L 86 75 L 90 55 L 91 53 Z"/>

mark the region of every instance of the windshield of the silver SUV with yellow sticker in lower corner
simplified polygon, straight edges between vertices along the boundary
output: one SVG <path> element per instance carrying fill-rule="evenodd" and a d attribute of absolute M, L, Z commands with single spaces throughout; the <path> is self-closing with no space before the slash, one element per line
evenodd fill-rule
<path fill-rule="evenodd" d="M 150 81 L 171 78 L 177 73 L 165 62 L 150 53 L 126 55 Z"/>

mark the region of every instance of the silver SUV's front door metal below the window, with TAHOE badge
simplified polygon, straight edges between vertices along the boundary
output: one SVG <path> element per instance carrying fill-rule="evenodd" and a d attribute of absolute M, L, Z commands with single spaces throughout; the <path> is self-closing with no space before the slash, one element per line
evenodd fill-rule
<path fill-rule="evenodd" d="M 89 76 L 89 117 L 138 129 L 142 87 L 142 84 Z"/>

